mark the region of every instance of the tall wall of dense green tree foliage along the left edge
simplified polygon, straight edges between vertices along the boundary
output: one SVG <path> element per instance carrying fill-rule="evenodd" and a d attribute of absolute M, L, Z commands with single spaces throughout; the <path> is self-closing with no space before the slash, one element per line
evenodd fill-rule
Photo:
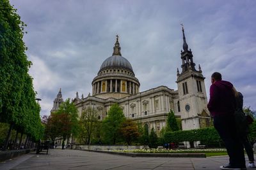
<path fill-rule="evenodd" d="M 9 1 L 0 1 L 0 122 L 10 124 L 3 149 L 12 129 L 28 134 L 31 140 L 40 138 L 44 131 L 28 74 L 31 62 L 22 40 L 25 26 Z"/>

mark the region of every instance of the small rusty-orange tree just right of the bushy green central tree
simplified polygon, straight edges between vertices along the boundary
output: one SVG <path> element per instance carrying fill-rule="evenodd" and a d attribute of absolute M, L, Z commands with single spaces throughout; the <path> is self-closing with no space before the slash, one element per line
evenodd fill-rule
<path fill-rule="evenodd" d="M 132 122 L 131 119 L 127 119 L 121 124 L 121 135 L 127 142 L 127 145 L 131 145 L 131 142 L 136 140 L 139 136 L 138 126 Z"/>

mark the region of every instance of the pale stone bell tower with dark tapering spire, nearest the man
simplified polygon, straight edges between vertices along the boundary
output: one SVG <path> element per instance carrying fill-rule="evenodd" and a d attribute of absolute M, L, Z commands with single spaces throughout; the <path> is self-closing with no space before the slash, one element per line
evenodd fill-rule
<path fill-rule="evenodd" d="M 178 111 L 182 120 L 182 130 L 200 129 L 209 127 L 211 117 L 207 110 L 207 96 L 205 91 L 205 77 L 198 65 L 196 70 L 191 49 L 188 50 L 188 43 L 182 25 L 183 50 L 180 52 L 182 60 L 182 71 L 177 69 L 177 85 L 179 92 Z"/>

